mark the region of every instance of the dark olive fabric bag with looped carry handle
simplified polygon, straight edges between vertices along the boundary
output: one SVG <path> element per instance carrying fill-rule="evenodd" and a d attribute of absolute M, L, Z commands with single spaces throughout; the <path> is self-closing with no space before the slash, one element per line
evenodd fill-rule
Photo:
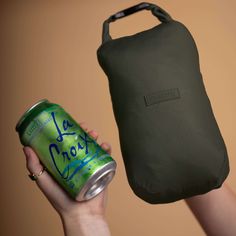
<path fill-rule="evenodd" d="M 142 9 L 161 23 L 111 38 L 110 22 Z M 157 204 L 221 187 L 229 174 L 227 149 L 188 29 L 160 7 L 140 3 L 104 22 L 97 56 L 108 77 L 133 192 Z"/>

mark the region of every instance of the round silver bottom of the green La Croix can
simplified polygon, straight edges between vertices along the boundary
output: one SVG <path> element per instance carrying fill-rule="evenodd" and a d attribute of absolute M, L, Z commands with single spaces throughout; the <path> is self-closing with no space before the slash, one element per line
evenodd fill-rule
<path fill-rule="evenodd" d="M 88 179 L 83 188 L 76 196 L 76 201 L 87 201 L 97 196 L 111 182 L 115 175 L 116 162 L 112 161 L 98 169 Z"/>

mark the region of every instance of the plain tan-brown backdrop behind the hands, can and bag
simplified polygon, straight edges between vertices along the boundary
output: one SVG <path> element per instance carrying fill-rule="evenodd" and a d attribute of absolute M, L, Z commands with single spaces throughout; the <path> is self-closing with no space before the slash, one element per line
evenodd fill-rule
<path fill-rule="evenodd" d="M 99 2 L 99 4 L 98 4 Z M 234 0 L 153 1 L 182 21 L 194 36 L 204 82 L 227 145 L 236 191 Z M 103 20 L 137 1 L 1 1 L 1 235 L 63 235 L 60 219 L 27 177 L 15 124 L 42 98 L 64 106 L 96 129 L 113 148 L 118 170 L 109 186 L 107 217 L 112 235 L 204 235 L 184 201 L 149 205 L 126 180 L 107 79 L 96 59 Z M 111 25 L 120 37 L 150 28 L 157 20 L 144 11 Z"/>

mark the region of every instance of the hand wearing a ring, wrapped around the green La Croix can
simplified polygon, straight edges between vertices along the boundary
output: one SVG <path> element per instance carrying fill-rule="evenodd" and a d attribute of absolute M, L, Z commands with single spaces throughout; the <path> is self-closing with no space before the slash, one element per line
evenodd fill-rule
<path fill-rule="evenodd" d="M 80 126 L 88 132 L 85 122 L 80 123 Z M 95 130 L 90 130 L 88 134 L 91 135 L 95 140 L 98 139 L 98 133 Z M 101 147 L 111 154 L 111 146 L 109 143 L 104 142 L 101 144 Z M 30 147 L 24 147 L 23 151 L 26 156 L 26 166 L 29 172 L 32 174 L 39 173 L 43 166 L 40 163 L 36 153 Z M 43 174 L 37 178 L 36 183 L 46 198 L 49 200 L 51 205 L 60 215 L 65 233 L 67 232 L 67 235 L 77 235 L 77 233 L 69 233 L 72 232 L 73 229 L 68 229 L 68 227 L 73 228 L 76 226 L 75 228 L 78 228 L 78 226 L 81 226 L 81 224 L 84 222 L 86 222 L 86 224 L 90 222 L 94 225 L 94 222 L 97 220 L 100 222 L 98 226 L 99 228 L 104 225 L 107 228 L 107 232 L 109 231 L 105 222 L 107 188 L 93 199 L 84 202 L 78 202 L 72 199 L 47 171 L 44 171 Z M 76 231 L 78 232 L 78 229 L 76 229 Z M 109 234 L 103 233 L 103 235 L 105 236 Z"/>

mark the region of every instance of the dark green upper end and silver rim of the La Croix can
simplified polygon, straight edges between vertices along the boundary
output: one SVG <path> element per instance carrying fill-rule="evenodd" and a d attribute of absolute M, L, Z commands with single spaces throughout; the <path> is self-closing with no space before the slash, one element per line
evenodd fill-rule
<path fill-rule="evenodd" d="M 29 109 L 25 111 L 25 113 L 21 116 L 19 121 L 16 124 L 16 131 L 18 133 L 21 133 L 26 126 L 27 119 L 37 111 L 37 113 L 40 113 L 42 111 L 42 108 L 45 108 L 45 104 L 49 104 L 49 101 L 47 99 L 42 99 L 38 102 L 36 102 L 33 106 L 31 106 Z"/>

